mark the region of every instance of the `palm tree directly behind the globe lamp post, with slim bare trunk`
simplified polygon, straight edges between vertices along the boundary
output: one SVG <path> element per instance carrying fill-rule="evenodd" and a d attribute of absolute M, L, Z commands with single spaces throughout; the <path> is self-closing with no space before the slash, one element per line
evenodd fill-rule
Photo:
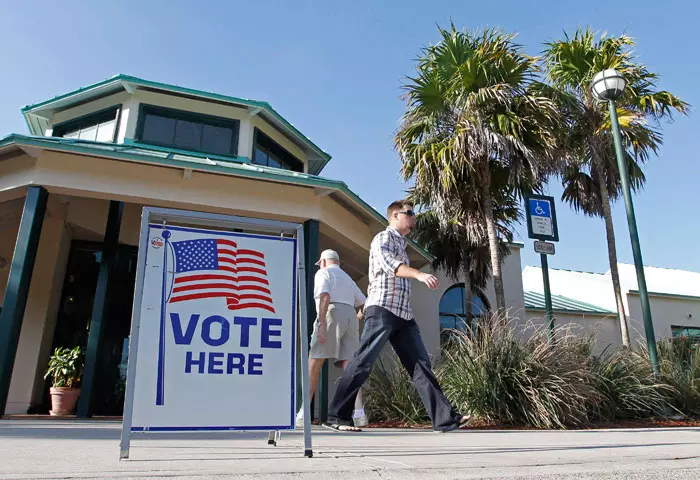
<path fill-rule="evenodd" d="M 544 52 L 547 78 L 555 89 L 553 98 L 566 117 L 566 127 L 559 131 L 561 153 L 567 160 L 561 172 L 562 200 L 576 211 L 605 220 L 610 274 L 624 346 L 629 346 L 629 332 L 611 214 L 611 203 L 622 193 L 620 174 L 607 105 L 595 100 L 590 84 L 596 73 L 607 68 L 614 68 L 627 80 L 624 95 L 616 103 L 633 190 L 644 185 L 641 167 L 661 146 L 659 121 L 670 119 L 673 110 L 686 114 L 689 108 L 678 97 L 657 90 L 659 76 L 636 61 L 633 46 L 634 40 L 626 35 L 602 35 L 596 39 L 589 28 L 577 30 L 573 38 L 565 35 L 564 40 L 547 43 Z"/>

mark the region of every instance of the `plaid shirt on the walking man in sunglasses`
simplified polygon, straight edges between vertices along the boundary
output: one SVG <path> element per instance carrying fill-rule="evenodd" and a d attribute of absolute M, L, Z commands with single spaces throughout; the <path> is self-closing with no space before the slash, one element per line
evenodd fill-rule
<path fill-rule="evenodd" d="M 400 265 L 409 266 L 406 239 L 394 228 L 388 227 L 372 240 L 365 307 L 383 307 L 397 317 L 411 320 L 411 281 L 396 276 Z"/>

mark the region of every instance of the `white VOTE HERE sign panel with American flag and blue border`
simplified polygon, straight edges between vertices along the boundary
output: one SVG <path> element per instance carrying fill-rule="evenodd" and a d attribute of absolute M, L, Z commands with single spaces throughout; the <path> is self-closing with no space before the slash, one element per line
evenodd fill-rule
<path fill-rule="evenodd" d="M 294 427 L 296 251 L 149 225 L 132 431 Z"/>

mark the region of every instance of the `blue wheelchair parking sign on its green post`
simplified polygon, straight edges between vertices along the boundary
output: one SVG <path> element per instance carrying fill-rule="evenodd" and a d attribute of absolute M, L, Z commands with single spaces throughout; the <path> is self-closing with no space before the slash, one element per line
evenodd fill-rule
<path fill-rule="evenodd" d="M 549 286 L 549 264 L 547 255 L 554 255 L 554 244 L 559 241 L 557 215 L 554 197 L 530 195 L 525 198 L 527 215 L 527 233 L 535 239 L 535 252 L 540 254 L 542 264 L 542 282 L 544 284 L 544 303 L 549 328 L 549 341 L 554 341 L 554 317 L 552 315 L 552 290 Z"/>

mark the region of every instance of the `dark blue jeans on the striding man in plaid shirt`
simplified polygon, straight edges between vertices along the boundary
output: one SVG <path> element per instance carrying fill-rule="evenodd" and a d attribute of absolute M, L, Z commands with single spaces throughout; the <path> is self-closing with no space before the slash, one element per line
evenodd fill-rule
<path fill-rule="evenodd" d="M 404 320 L 378 306 L 367 307 L 365 311 L 360 349 L 338 383 L 328 412 L 328 423 L 352 425 L 352 410 L 357 392 L 369 377 L 372 365 L 387 341 L 391 342 L 401 363 L 413 379 L 413 384 L 433 421 L 433 429 L 449 431 L 459 427 L 462 416 L 442 393 L 416 321 Z"/>

